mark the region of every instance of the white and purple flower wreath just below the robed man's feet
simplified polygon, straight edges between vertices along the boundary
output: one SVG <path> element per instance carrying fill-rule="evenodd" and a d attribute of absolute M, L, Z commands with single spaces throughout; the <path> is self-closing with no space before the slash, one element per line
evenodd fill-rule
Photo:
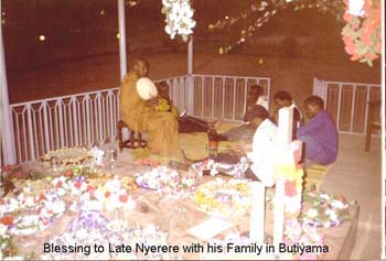
<path fill-rule="evenodd" d="M 194 176 L 180 175 L 167 166 L 153 167 L 149 172 L 137 173 L 138 186 L 154 189 L 168 197 L 190 197 L 196 189 L 197 180 Z"/>

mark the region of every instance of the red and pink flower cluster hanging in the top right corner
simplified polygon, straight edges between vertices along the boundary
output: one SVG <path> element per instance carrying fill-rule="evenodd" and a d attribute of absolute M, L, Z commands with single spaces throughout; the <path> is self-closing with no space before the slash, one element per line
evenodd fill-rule
<path fill-rule="evenodd" d="M 364 0 L 363 12 L 354 15 L 349 11 L 349 0 L 343 0 L 346 12 L 343 15 L 346 25 L 342 30 L 344 50 L 352 61 L 373 65 L 382 53 L 382 4 L 378 0 Z"/>

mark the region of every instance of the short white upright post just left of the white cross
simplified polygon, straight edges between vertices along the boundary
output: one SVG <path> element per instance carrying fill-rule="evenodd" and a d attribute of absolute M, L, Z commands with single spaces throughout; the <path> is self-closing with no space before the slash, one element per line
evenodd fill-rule
<path fill-rule="evenodd" d="M 249 239 L 258 244 L 264 243 L 266 188 L 261 183 L 250 183 L 251 209 L 249 218 Z"/>

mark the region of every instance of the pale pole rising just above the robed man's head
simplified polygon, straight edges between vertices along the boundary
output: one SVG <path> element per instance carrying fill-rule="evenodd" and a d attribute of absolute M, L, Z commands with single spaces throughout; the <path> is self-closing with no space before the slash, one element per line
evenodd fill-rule
<path fill-rule="evenodd" d="M 118 0 L 120 79 L 124 79 L 127 73 L 125 23 L 125 0 Z"/>

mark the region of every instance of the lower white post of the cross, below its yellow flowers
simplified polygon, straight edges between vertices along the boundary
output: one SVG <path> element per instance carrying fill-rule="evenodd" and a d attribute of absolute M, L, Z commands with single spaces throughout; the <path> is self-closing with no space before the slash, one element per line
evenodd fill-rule
<path fill-rule="evenodd" d="M 276 180 L 275 188 L 275 221 L 274 221 L 274 246 L 279 249 L 282 242 L 282 232 L 285 224 L 285 180 Z"/>

